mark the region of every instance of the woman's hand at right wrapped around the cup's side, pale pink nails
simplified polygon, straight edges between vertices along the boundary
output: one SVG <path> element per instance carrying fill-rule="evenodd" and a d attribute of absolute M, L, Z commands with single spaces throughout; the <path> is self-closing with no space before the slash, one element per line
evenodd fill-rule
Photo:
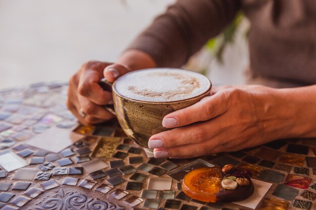
<path fill-rule="evenodd" d="M 280 134 L 275 92 L 264 86 L 213 88 L 212 96 L 166 115 L 163 126 L 173 129 L 152 135 L 148 147 L 155 158 L 193 158 L 270 142 Z"/>

